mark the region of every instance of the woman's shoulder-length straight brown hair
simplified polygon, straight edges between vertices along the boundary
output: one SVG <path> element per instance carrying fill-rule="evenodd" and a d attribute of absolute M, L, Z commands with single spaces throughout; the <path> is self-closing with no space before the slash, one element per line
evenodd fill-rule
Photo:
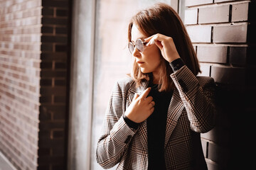
<path fill-rule="evenodd" d="M 129 42 L 132 40 L 131 32 L 132 26 L 134 25 L 136 25 L 139 31 L 147 37 L 156 33 L 161 33 L 173 38 L 178 55 L 188 69 L 190 69 L 194 75 L 201 72 L 196 52 L 193 49 L 186 28 L 183 25 L 181 18 L 178 16 L 178 13 L 176 13 L 171 6 L 164 3 L 154 4 L 154 6 L 139 11 L 133 16 L 128 27 Z M 173 73 L 173 71 L 169 66 L 169 63 L 164 60 L 164 57 L 161 57 L 160 67 L 159 91 L 170 91 L 174 88 L 174 84 L 170 77 L 170 74 Z M 150 73 L 142 73 L 138 64 L 134 62 L 131 76 L 134 81 L 137 82 L 137 86 L 139 86 L 142 81 L 149 81 Z"/>

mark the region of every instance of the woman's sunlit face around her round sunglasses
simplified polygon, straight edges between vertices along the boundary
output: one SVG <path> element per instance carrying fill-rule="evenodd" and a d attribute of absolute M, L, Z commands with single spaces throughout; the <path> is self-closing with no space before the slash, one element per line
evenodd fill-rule
<path fill-rule="evenodd" d="M 137 26 L 133 25 L 132 43 L 135 44 L 137 39 L 141 39 L 142 41 L 144 41 L 145 38 L 147 37 L 139 31 Z M 141 69 L 141 72 L 152 72 L 155 75 L 159 72 L 161 55 L 159 48 L 155 44 L 149 46 L 144 45 L 143 52 L 139 52 L 139 50 L 135 48 L 132 52 L 132 55 L 135 57 L 135 62 L 137 62 L 139 68 Z"/>

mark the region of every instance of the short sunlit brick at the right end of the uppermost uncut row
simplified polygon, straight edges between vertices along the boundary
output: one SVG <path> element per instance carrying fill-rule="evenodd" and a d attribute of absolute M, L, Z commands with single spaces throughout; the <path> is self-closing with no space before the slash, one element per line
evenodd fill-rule
<path fill-rule="evenodd" d="M 231 22 L 247 21 L 248 18 L 248 3 L 233 4 Z"/>

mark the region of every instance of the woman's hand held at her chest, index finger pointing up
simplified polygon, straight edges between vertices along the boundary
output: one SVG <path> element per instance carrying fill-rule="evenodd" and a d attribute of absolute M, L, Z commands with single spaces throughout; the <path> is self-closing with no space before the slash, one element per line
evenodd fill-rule
<path fill-rule="evenodd" d="M 129 120 L 135 123 L 142 123 L 153 113 L 155 105 L 153 98 L 151 96 L 146 97 L 149 95 L 150 90 L 150 87 L 147 88 L 140 96 L 134 94 L 132 103 L 124 113 Z"/>

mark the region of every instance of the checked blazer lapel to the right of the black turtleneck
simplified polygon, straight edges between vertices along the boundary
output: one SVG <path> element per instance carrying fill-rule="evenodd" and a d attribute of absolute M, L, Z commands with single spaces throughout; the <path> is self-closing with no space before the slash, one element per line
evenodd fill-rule
<path fill-rule="evenodd" d="M 178 89 L 174 89 L 173 96 L 171 97 L 171 102 L 167 112 L 167 120 L 166 120 L 166 137 L 164 142 L 164 148 L 166 147 L 171 133 L 173 132 L 178 118 L 180 117 L 181 113 L 183 112 L 183 103 L 181 101 L 181 97 L 178 94 Z"/>

